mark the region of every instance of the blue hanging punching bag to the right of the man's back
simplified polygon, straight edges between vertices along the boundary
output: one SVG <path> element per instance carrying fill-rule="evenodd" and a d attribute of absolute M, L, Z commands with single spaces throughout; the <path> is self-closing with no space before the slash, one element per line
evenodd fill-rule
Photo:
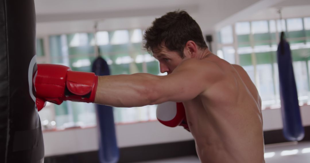
<path fill-rule="evenodd" d="M 304 129 L 300 116 L 290 44 L 285 40 L 284 32 L 281 32 L 281 40 L 277 50 L 277 61 L 283 134 L 286 140 L 299 141 L 304 137 Z"/>

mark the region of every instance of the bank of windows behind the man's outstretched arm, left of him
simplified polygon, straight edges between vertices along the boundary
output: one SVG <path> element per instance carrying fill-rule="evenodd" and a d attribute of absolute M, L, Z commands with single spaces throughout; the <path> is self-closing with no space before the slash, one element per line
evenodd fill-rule
<path fill-rule="evenodd" d="M 69 66 L 75 71 L 91 72 L 95 60 L 93 33 L 73 33 L 49 36 L 49 61 Z M 110 73 L 160 74 L 155 58 L 142 50 L 142 30 L 98 31 L 96 41 L 100 55 L 107 61 Z M 43 40 L 37 40 L 38 56 L 44 56 Z M 132 108 L 113 108 L 116 123 L 131 123 L 156 119 L 156 105 Z M 96 125 L 95 105 L 64 101 L 61 105 L 47 103 L 39 112 L 43 129 L 63 129 Z M 53 124 L 53 125 L 51 125 Z"/>

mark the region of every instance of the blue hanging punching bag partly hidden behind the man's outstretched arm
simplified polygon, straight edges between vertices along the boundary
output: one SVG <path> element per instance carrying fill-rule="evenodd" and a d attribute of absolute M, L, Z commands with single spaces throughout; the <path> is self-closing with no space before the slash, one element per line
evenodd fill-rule
<path fill-rule="evenodd" d="M 98 76 L 110 75 L 108 64 L 101 57 L 94 61 L 92 71 Z M 99 130 L 100 163 L 116 163 L 119 159 L 119 150 L 116 142 L 113 108 L 105 105 L 95 105 Z"/>

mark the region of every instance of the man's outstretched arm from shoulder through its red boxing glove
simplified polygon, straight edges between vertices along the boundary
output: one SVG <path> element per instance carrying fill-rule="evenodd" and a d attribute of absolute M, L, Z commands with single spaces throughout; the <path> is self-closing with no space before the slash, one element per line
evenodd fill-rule
<path fill-rule="evenodd" d="M 184 61 L 167 76 L 136 73 L 100 76 L 98 80 L 94 80 L 97 78 L 94 73 L 71 71 L 61 65 L 39 64 L 34 84 L 40 108 L 45 101 L 60 104 L 64 100 L 139 107 L 193 99 L 222 76 L 214 63 L 196 59 Z"/>

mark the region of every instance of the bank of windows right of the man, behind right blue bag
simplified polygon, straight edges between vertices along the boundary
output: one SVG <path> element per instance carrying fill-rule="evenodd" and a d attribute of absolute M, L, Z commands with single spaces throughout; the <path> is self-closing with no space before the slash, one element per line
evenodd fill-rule
<path fill-rule="evenodd" d="M 280 107 L 277 47 L 281 31 L 290 43 L 299 102 L 309 103 L 310 17 L 238 22 L 218 33 L 217 55 L 246 70 L 262 98 L 262 109 Z"/>

